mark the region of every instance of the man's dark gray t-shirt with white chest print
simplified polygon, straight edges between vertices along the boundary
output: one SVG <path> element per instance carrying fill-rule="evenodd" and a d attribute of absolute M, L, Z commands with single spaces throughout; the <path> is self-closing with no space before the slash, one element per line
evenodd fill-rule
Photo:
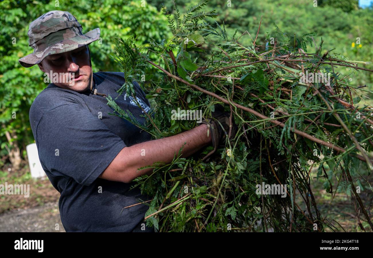
<path fill-rule="evenodd" d="M 118 96 L 124 74 L 93 74 L 97 92 Z M 145 112 L 150 103 L 140 86 L 133 83 L 136 97 Z M 144 111 L 125 93 L 116 100 L 142 124 Z M 151 197 L 141 195 L 130 184 L 98 178 L 123 147 L 150 140 L 151 136 L 131 122 L 115 115 L 103 96 L 90 90 L 75 92 L 50 83 L 35 98 L 29 113 L 32 133 L 41 165 L 60 192 L 62 224 L 68 232 L 139 231 L 148 206 L 139 204 Z M 101 192 L 102 191 L 102 192 Z M 123 210 L 122 210 L 123 209 Z M 154 231 L 146 227 L 146 231 Z"/>

